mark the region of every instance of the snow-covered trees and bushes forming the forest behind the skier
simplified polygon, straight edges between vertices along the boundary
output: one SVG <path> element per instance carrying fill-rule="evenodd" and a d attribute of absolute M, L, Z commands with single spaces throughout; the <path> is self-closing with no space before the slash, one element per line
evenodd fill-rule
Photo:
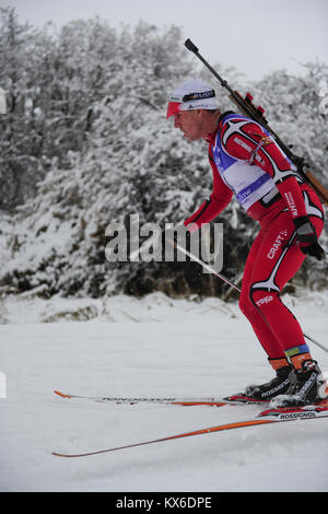
<path fill-rule="evenodd" d="M 95 17 L 36 28 L 14 9 L 1 9 L 2 297 L 26 291 L 45 299 L 154 291 L 236 297 L 195 262 L 109 262 L 105 255 L 110 223 L 128 230 L 132 214 L 140 224 L 179 223 L 211 192 L 206 143 L 189 143 L 165 119 L 169 93 L 188 78 L 209 82 L 222 110 L 234 108 L 196 61 L 176 26 L 114 28 Z M 327 65 L 306 62 L 302 77 L 272 70 L 254 83 L 212 65 L 233 89 L 254 94 L 327 187 L 327 112 L 320 109 Z M 241 283 L 258 226 L 235 200 L 213 221 L 223 223 L 222 272 Z M 327 227 L 321 241 L 328 248 Z M 327 261 L 306 259 L 288 291 L 321 290 L 327 271 Z"/>

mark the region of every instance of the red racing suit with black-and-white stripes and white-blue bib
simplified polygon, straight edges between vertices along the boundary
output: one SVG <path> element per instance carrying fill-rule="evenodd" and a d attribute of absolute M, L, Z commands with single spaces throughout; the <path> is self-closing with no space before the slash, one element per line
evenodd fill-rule
<path fill-rule="evenodd" d="M 295 244 L 297 217 L 308 215 L 317 236 L 324 211 L 314 189 L 304 183 L 294 164 L 269 132 L 234 113 L 221 115 L 209 141 L 213 191 L 185 224 L 213 220 L 235 194 L 260 231 L 247 257 L 239 307 L 270 359 L 285 351 L 308 350 L 294 315 L 280 293 L 301 267 L 305 255 Z"/>

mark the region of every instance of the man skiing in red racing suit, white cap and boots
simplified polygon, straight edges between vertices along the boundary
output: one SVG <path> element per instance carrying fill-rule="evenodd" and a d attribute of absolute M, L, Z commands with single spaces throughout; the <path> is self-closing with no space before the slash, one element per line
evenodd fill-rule
<path fill-rule="evenodd" d="M 277 407 L 315 404 L 328 388 L 312 358 L 298 322 L 280 293 L 306 255 L 318 260 L 324 226 L 321 203 L 314 189 L 270 133 L 253 119 L 221 113 L 214 90 L 199 80 L 179 85 L 169 98 L 166 118 L 189 141 L 204 139 L 213 173 L 213 190 L 185 220 L 195 231 L 213 220 L 235 195 L 260 225 L 247 257 L 239 307 L 268 354 L 276 376 L 246 387 L 244 395 L 274 400 Z"/>

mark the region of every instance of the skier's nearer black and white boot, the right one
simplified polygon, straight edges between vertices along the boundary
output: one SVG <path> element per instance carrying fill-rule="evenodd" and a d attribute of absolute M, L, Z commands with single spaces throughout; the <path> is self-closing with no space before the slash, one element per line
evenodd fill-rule
<path fill-rule="evenodd" d="M 302 407 L 328 401 L 328 385 L 316 361 L 303 361 L 302 367 L 295 371 L 295 378 L 285 395 L 272 399 L 272 407 Z"/>

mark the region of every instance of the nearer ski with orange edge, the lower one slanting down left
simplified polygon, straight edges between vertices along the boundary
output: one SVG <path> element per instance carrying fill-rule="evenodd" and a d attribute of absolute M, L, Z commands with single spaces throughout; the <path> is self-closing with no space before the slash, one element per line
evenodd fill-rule
<path fill-rule="evenodd" d="M 151 441 L 143 441 L 141 443 L 126 444 L 124 446 L 117 446 L 114 448 L 107 449 L 97 449 L 94 452 L 85 452 L 81 454 L 63 454 L 58 452 L 52 452 L 52 455 L 57 457 L 87 457 L 91 455 L 99 455 L 104 453 L 118 452 L 120 449 L 134 448 L 137 446 L 144 446 L 154 443 L 162 443 L 164 441 L 173 441 L 183 437 L 190 437 L 192 435 L 209 434 L 213 432 L 223 432 L 225 430 L 243 429 L 246 427 L 257 427 L 270 423 L 280 423 L 295 420 L 313 420 L 321 419 L 328 417 L 328 404 L 306 406 L 300 408 L 281 408 L 281 409 L 267 409 L 261 411 L 257 418 L 246 420 L 246 421 L 236 421 L 234 423 L 219 424 L 216 427 L 210 427 L 208 429 L 194 430 L 192 432 L 184 432 L 180 434 L 168 435 L 166 437 L 155 439 Z"/>

